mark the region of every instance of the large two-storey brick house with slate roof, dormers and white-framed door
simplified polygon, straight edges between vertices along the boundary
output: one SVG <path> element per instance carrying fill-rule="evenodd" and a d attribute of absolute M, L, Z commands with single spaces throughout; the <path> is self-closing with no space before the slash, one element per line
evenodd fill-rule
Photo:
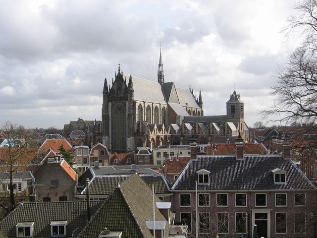
<path fill-rule="evenodd" d="M 193 144 L 192 159 L 171 187 L 175 221 L 193 236 L 252 237 L 256 224 L 259 237 L 313 237 L 316 187 L 289 154 L 243 155 L 242 143 L 236 145 L 236 155 L 196 158 Z"/>

